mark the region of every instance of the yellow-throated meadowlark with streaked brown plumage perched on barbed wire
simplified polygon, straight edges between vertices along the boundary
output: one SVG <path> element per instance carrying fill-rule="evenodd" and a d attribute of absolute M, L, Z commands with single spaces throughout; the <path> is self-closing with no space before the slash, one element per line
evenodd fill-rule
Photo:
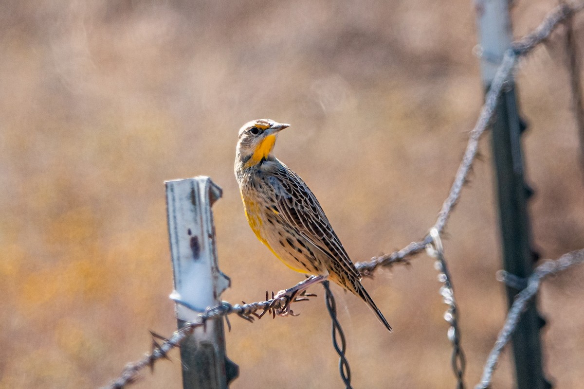
<path fill-rule="evenodd" d="M 302 178 L 274 157 L 278 133 L 289 124 L 253 120 L 239 130 L 235 177 L 245 216 L 258 239 L 289 268 L 312 275 L 303 289 L 329 278 L 361 297 L 391 331 L 363 285 L 317 198 Z"/>

